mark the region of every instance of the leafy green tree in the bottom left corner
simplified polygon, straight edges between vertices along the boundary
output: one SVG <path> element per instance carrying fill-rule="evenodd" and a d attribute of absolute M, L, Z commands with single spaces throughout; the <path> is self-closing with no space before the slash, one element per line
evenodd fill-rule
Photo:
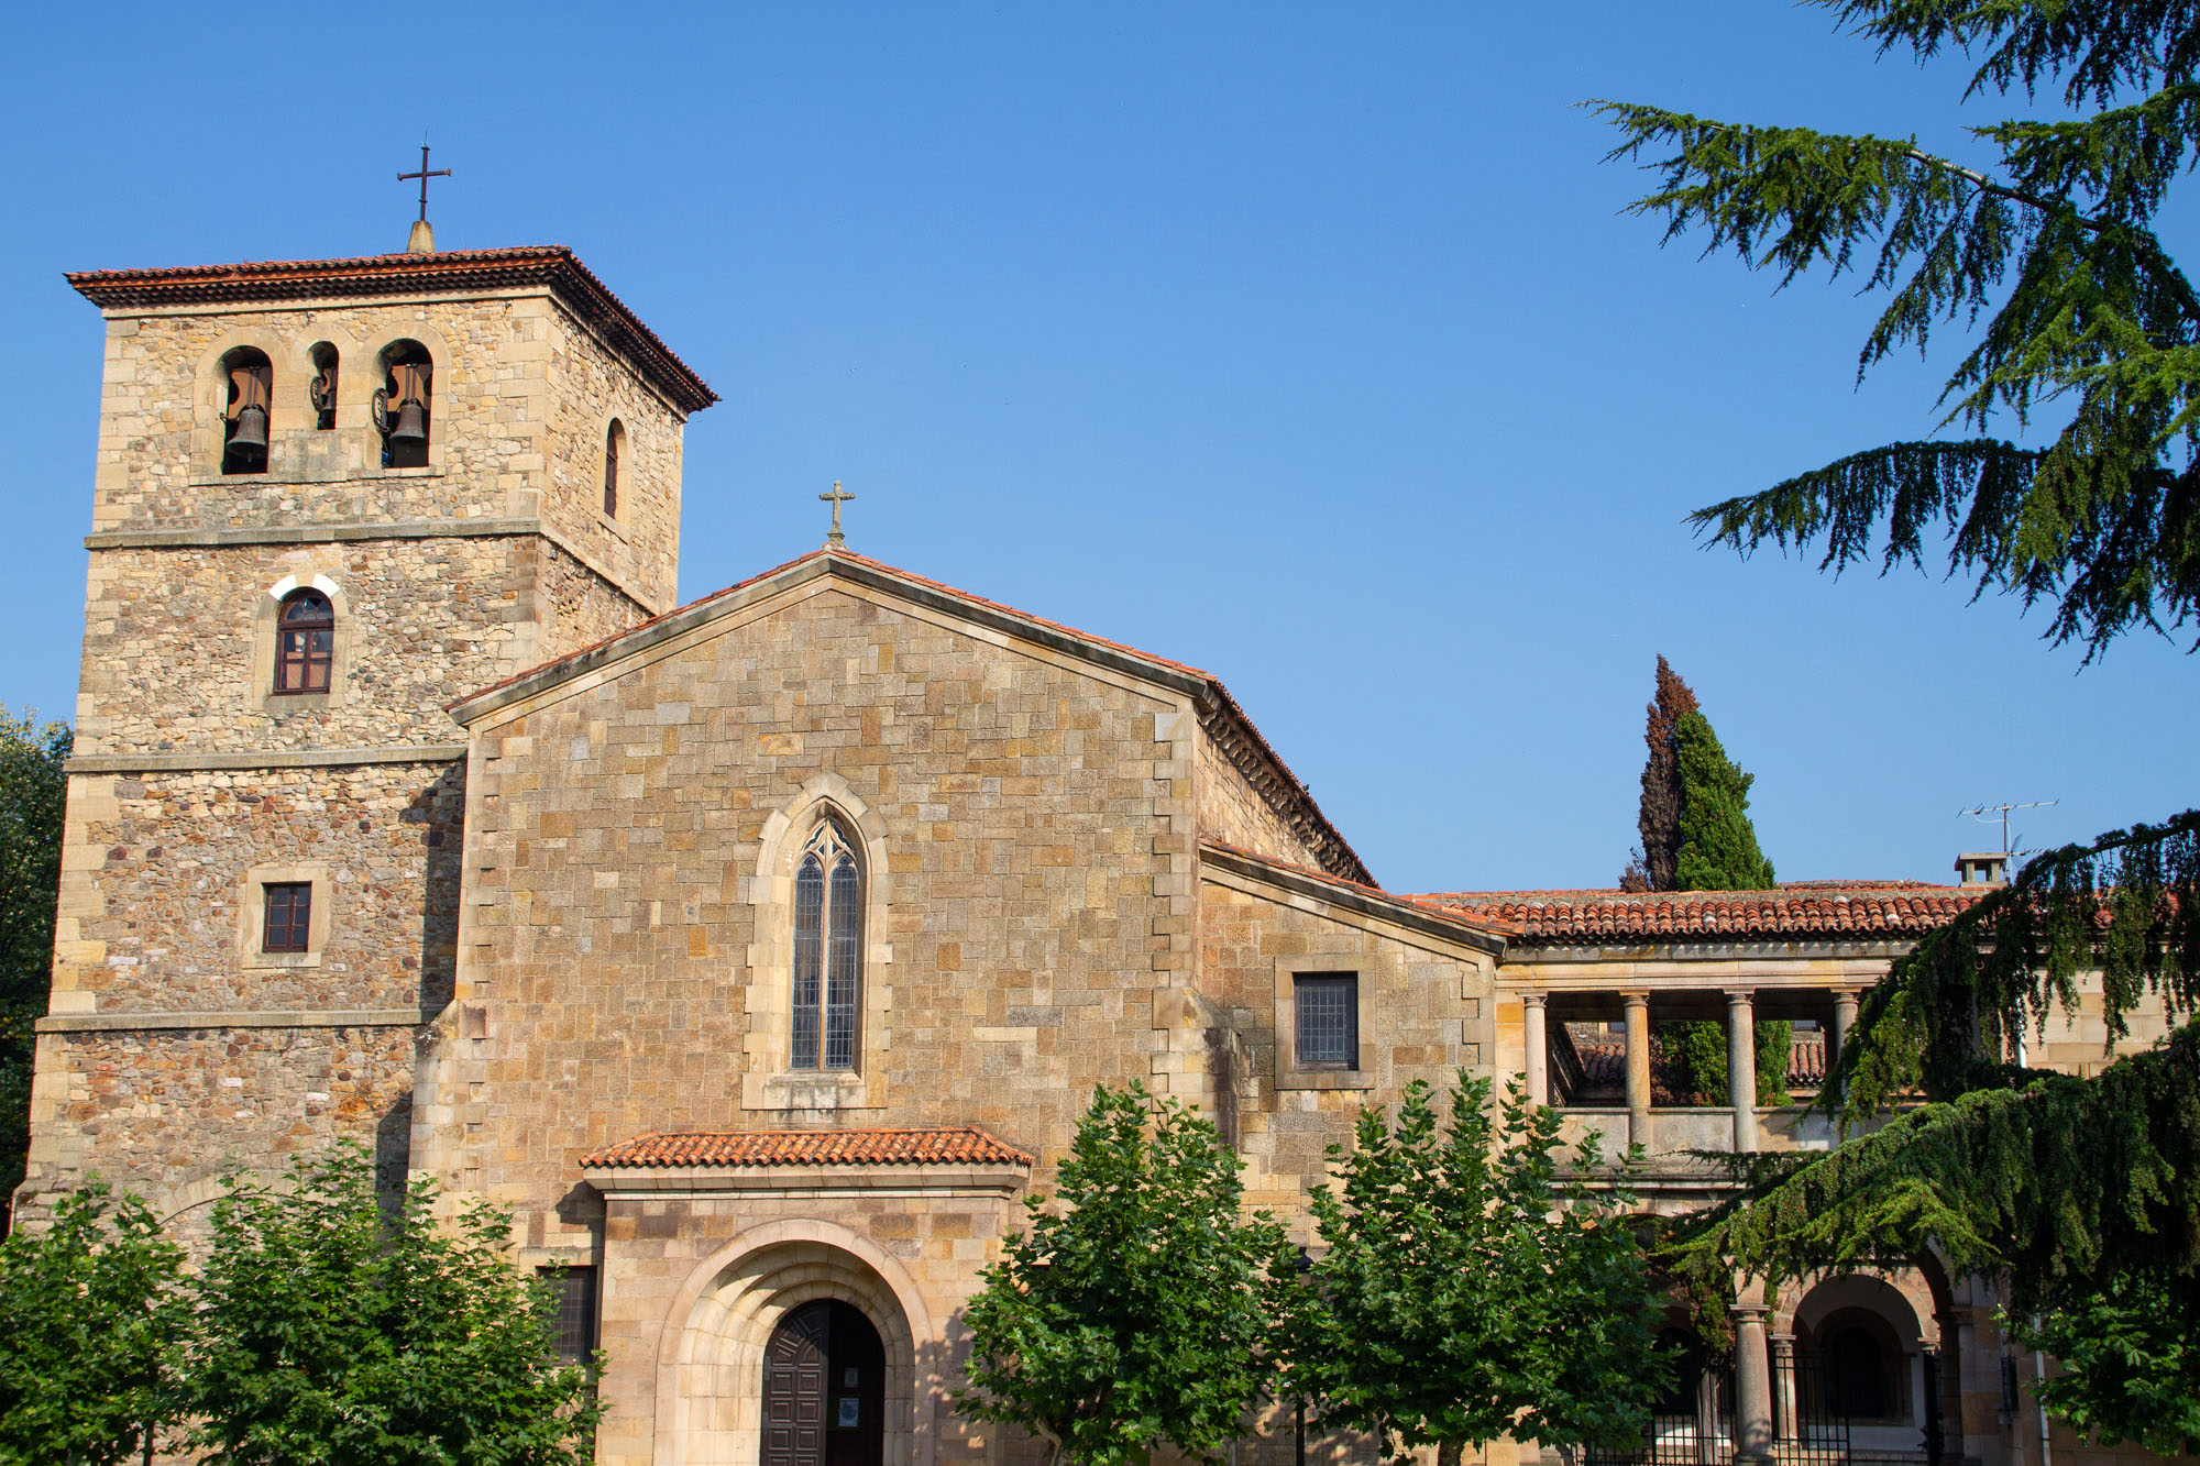
<path fill-rule="evenodd" d="M 0 1244 L 0 1466 L 117 1466 L 178 1415 L 183 1250 L 136 1197 L 73 1191 Z"/>

